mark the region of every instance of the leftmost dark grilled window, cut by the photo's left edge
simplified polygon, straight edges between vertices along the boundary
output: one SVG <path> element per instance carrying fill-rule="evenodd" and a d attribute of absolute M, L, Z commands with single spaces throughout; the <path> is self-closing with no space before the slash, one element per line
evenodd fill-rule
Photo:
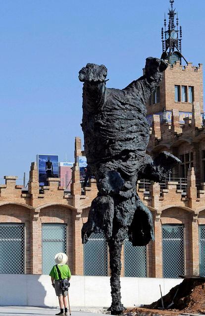
<path fill-rule="evenodd" d="M 0 273 L 25 273 L 24 224 L 0 223 Z"/>

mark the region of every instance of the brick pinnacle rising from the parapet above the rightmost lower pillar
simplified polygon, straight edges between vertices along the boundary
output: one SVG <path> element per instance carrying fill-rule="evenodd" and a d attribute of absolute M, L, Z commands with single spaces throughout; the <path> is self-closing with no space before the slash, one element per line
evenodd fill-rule
<path fill-rule="evenodd" d="M 196 209 L 197 187 L 194 168 L 189 168 L 187 174 L 187 198 L 189 199 L 188 206 L 193 211 Z"/>

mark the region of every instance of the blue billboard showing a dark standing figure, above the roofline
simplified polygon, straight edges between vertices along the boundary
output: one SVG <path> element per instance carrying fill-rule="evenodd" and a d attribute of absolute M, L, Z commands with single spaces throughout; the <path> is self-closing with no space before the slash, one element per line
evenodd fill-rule
<path fill-rule="evenodd" d="M 58 178 L 58 155 L 37 155 L 39 185 L 48 185 L 47 178 Z"/>

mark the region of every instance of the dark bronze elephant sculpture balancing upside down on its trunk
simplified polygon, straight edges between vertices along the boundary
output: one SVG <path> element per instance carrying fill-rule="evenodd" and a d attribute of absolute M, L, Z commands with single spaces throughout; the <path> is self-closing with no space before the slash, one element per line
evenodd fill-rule
<path fill-rule="evenodd" d="M 124 309 L 119 279 L 124 239 L 128 235 L 133 246 L 154 240 L 152 214 L 139 199 L 136 182 L 141 178 L 161 181 L 179 162 L 166 152 L 155 159 L 146 155 L 150 126 L 145 104 L 166 67 L 161 59 L 147 58 L 144 76 L 122 90 L 106 88 L 104 65 L 88 63 L 79 72 L 84 82 L 85 154 L 99 190 L 83 225 L 82 240 L 86 243 L 92 232 L 104 232 L 109 246 L 112 315 Z"/>

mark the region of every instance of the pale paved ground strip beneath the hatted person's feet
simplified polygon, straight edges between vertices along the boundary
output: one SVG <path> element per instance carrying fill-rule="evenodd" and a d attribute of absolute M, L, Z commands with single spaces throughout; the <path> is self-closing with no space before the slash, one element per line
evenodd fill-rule
<path fill-rule="evenodd" d="M 100 313 L 81 312 L 81 308 L 73 308 L 72 316 L 102 316 Z M 83 308 L 82 308 L 83 310 Z M 93 309 L 97 312 L 97 309 Z M 92 311 L 92 309 L 91 309 Z M 59 309 L 28 307 L 28 306 L 0 306 L 0 316 L 51 316 L 59 313 Z M 69 315 L 69 313 L 68 313 Z M 104 316 L 104 315 L 103 315 Z"/>

